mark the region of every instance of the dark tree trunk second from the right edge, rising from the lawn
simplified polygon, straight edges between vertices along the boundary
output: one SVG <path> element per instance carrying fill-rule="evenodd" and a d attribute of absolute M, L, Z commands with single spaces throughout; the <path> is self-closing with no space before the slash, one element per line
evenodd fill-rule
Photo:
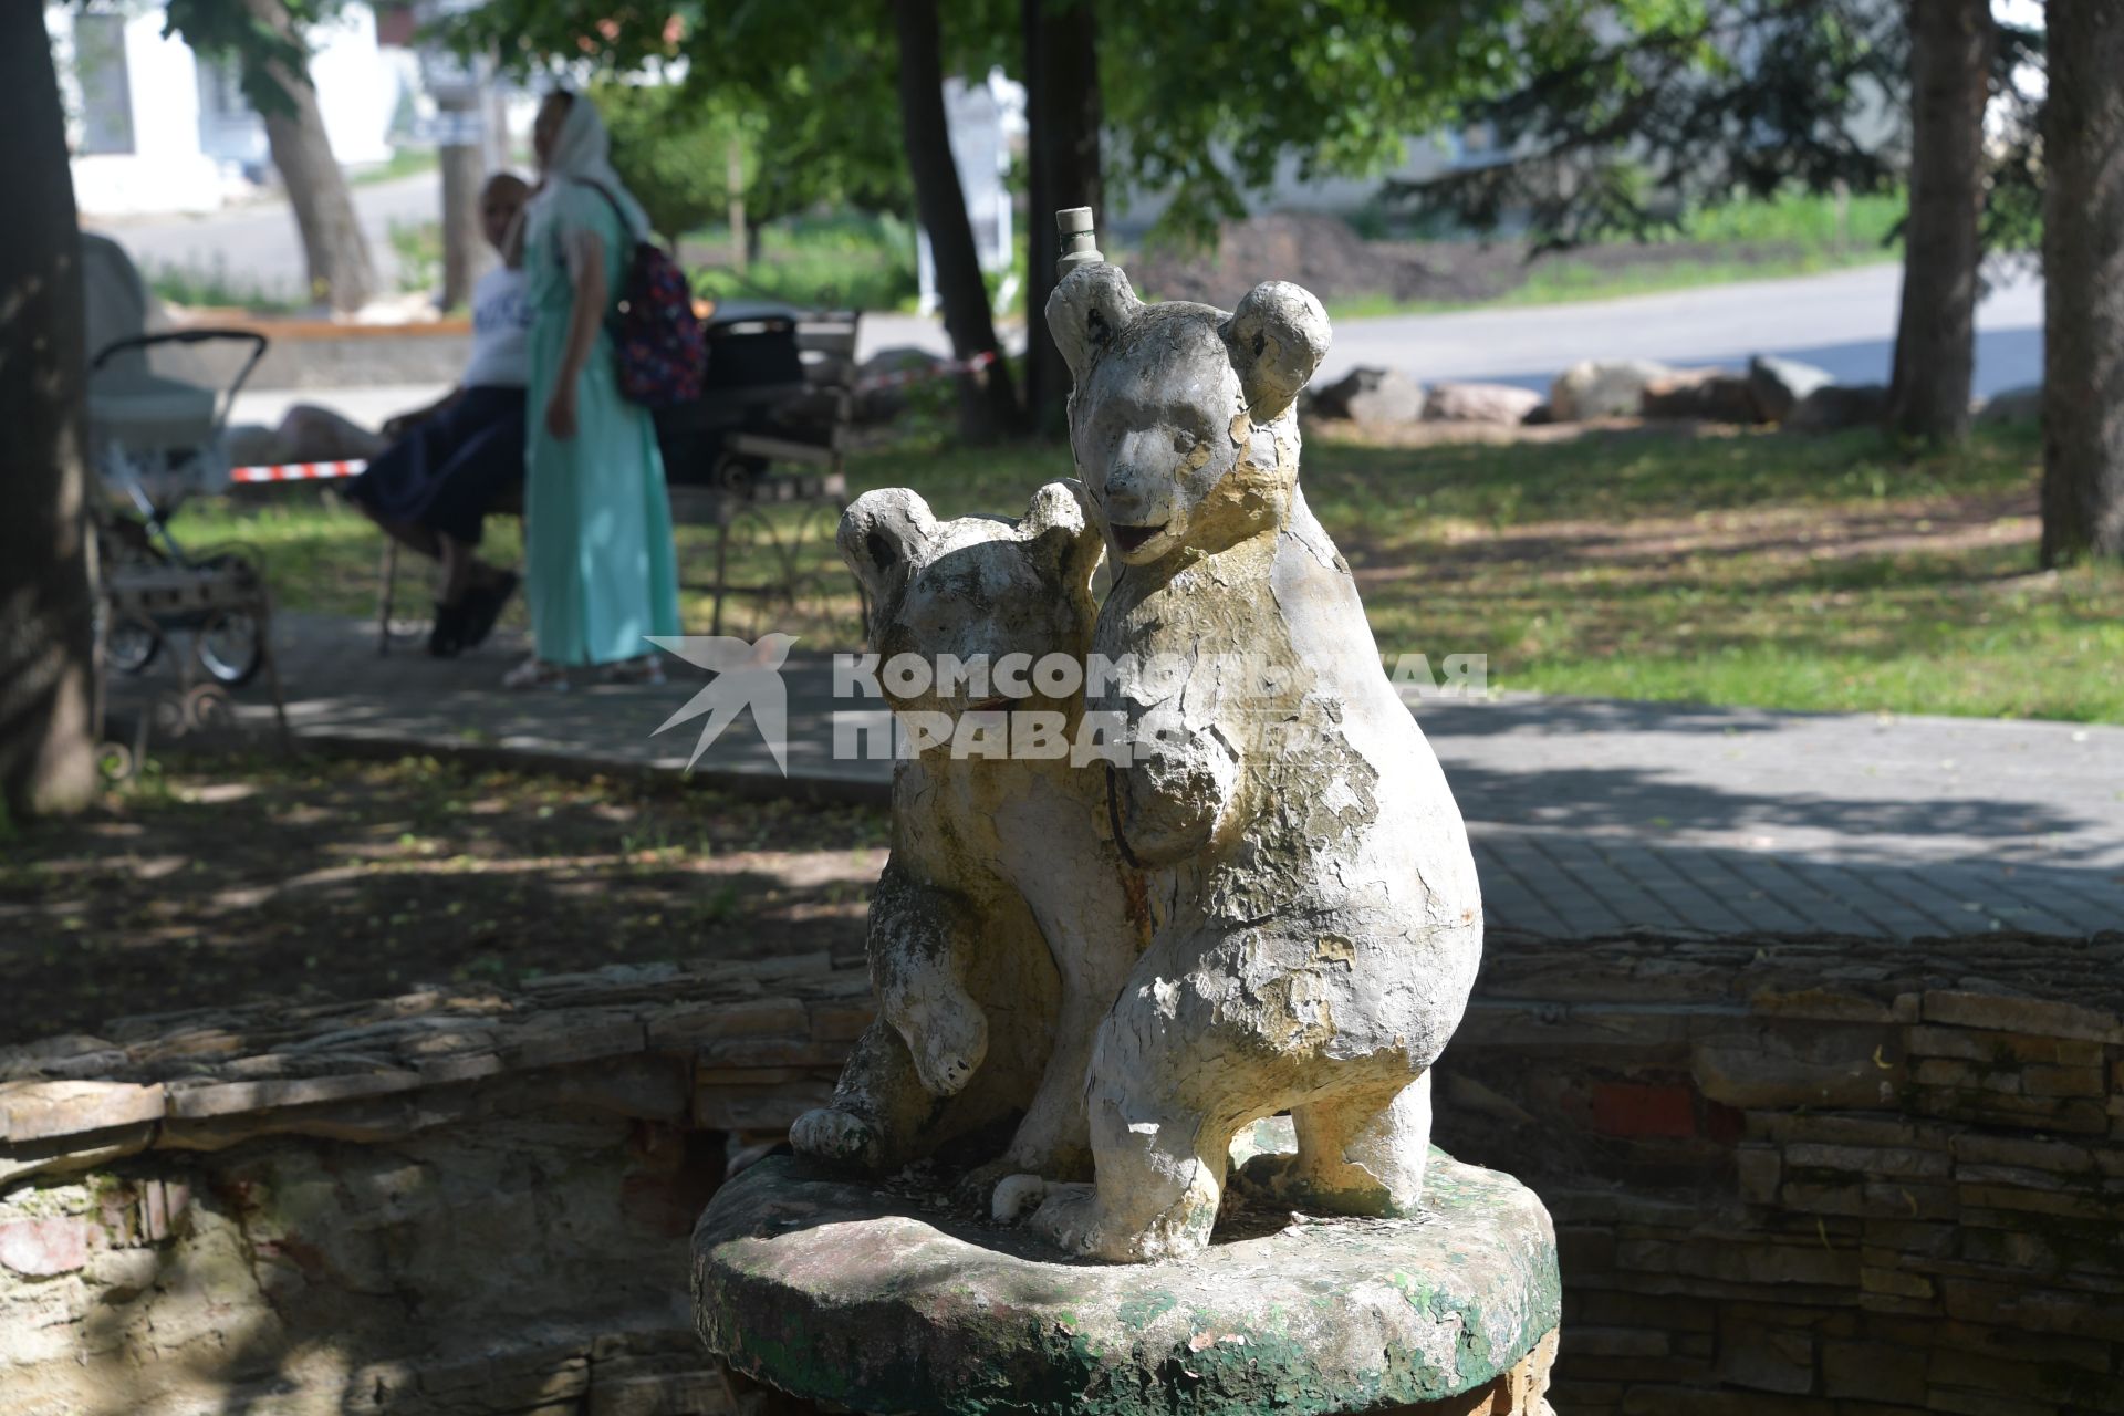
<path fill-rule="evenodd" d="M 1994 45 L 1990 0 L 1909 0 L 1909 223 L 1888 397 L 1905 437 L 1969 433 Z"/>

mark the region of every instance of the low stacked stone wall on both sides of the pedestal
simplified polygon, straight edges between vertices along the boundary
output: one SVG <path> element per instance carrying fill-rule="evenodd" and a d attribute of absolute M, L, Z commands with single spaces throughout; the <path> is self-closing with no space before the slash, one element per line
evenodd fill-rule
<path fill-rule="evenodd" d="M 2124 1414 L 2124 936 L 1493 938 L 1438 1140 L 1540 1191 L 1563 1416 Z M 0 1416 L 720 1412 L 686 1231 L 824 955 L 0 1051 Z"/>

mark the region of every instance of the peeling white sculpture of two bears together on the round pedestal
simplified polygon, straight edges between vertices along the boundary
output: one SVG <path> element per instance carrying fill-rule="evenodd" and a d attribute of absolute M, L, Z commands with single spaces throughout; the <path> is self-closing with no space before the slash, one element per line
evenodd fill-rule
<path fill-rule="evenodd" d="M 1075 376 L 1083 484 L 1041 488 L 1017 524 L 937 522 L 913 493 L 873 493 L 841 548 L 879 605 L 886 664 L 1104 664 L 1054 701 L 903 677 L 886 681 L 894 713 L 1060 711 L 1117 724 L 1126 752 L 966 760 L 926 735 L 937 749 L 894 777 L 871 913 L 881 1019 L 792 1140 L 875 1172 L 1032 1098 L 1009 1153 L 975 1172 L 1037 1176 L 996 1187 L 998 1216 L 1037 1202 L 1066 1253 L 1147 1261 L 1209 1242 L 1232 1136 L 1289 1110 L 1296 1157 L 1262 1155 L 1243 1182 L 1404 1214 L 1483 904 L 1438 760 L 1298 490 L 1291 405 L 1328 316 L 1281 282 L 1232 314 L 1143 306 L 1119 270 L 1085 263 L 1047 323 Z M 1094 620 L 1100 539 L 1115 577 Z M 1073 1185 L 1085 1140 L 1092 1182 Z"/>

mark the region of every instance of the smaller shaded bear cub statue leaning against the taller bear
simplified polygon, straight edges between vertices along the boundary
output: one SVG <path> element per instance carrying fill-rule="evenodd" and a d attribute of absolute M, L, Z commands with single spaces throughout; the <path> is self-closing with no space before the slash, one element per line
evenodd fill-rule
<path fill-rule="evenodd" d="M 881 1176 L 1024 1112 L 966 1185 L 1090 1178 L 1092 1036 L 1145 932 L 1128 917 L 1104 775 L 1070 762 L 1081 694 L 1043 694 L 1041 681 L 1075 684 L 1028 667 L 1064 656 L 1081 671 L 1100 535 L 1075 484 L 1051 482 L 1017 522 L 939 522 L 911 490 L 867 493 L 839 539 L 915 752 L 894 764 L 892 856 L 871 902 L 877 1019 L 833 1104 L 799 1117 L 790 1142 Z M 945 677 L 947 662 L 983 664 L 990 684 Z M 975 728 L 994 749 L 966 749 Z"/>

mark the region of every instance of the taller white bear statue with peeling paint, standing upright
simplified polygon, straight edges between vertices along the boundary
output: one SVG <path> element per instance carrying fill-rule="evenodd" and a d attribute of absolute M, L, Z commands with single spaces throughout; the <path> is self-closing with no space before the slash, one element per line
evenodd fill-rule
<path fill-rule="evenodd" d="M 1151 938 L 1094 1040 L 1094 1182 L 1028 1185 L 1032 1227 L 1107 1261 L 1194 1253 L 1232 1136 L 1283 1110 L 1298 1153 L 1240 1185 L 1408 1214 L 1483 904 L 1453 792 L 1298 488 L 1294 401 L 1328 316 L 1281 282 L 1230 314 L 1145 306 L 1085 263 L 1047 325 L 1115 571 L 1085 713 L 1126 728 L 1109 809 Z"/>

